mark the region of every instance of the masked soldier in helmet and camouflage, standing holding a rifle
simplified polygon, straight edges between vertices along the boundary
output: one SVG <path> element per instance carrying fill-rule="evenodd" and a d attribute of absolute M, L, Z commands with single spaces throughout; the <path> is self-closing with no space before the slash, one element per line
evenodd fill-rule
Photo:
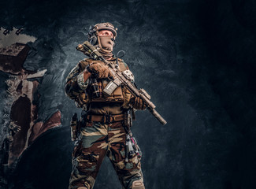
<path fill-rule="evenodd" d="M 110 23 L 95 24 L 88 32 L 88 41 L 123 72 L 128 70 L 128 65 L 112 54 L 116 37 L 117 28 Z M 66 79 L 66 95 L 86 111 L 72 153 L 69 189 L 92 189 L 105 156 L 112 162 L 123 188 L 145 188 L 139 146 L 130 130 L 130 110 L 146 109 L 146 106 L 123 86 L 110 96 L 104 95 L 102 90 L 109 78 L 109 69 L 102 61 L 85 58 Z"/>

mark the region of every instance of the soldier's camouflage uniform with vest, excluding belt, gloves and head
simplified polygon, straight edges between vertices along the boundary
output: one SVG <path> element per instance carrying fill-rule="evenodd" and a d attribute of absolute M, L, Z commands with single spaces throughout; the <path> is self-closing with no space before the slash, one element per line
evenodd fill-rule
<path fill-rule="evenodd" d="M 78 65 L 69 73 L 66 80 L 65 93 L 76 102 L 76 106 L 87 109 L 88 114 L 97 115 L 122 115 L 129 107 L 132 95 L 124 87 L 117 88 L 117 93 L 112 97 L 106 98 L 102 95 L 105 87 L 103 79 L 98 79 L 100 92 L 99 98 L 94 98 L 90 82 L 83 80 L 83 70 L 94 60 L 87 58 L 80 61 Z M 114 62 L 110 60 L 110 62 Z M 128 69 L 128 66 L 118 59 L 121 71 Z M 97 102 L 97 99 L 98 100 Z M 107 155 L 116 170 L 122 187 L 136 187 L 136 184 L 143 184 L 143 174 L 141 171 L 140 157 L 136 154 L 128 158 L 125 162 L 125 141 L 126 131 L 123 120 L 117 121 L 86 121 L 80 128 L 79 139 L 76 140 L 75 148 L 72 153 L 72 174 L 69 189 L 87 188 L 94 186 L 96 176 L 103 158 Z"/>

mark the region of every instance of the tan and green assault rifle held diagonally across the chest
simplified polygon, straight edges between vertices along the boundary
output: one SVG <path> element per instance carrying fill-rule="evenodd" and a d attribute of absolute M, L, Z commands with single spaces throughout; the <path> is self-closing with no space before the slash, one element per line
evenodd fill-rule
<path fill-rule="evenodd" d="M 143 102 L 147 105 L 147 109 L 150 111 L 150 113 L 153 114 L 154 117 L 160 121 L 161 124 L 167 123 L 166 120 L 161 117 L 161 115 L 155 110 L 156 106 L 154 106 L 153 102 L 150 101 L 150 95 L 148 95 L 144 89 L 138 89 L 132 83 L 133 76 L 131 71 L 126 70 L 121 72 L 118 69 L 118 65 L 112 65 L 106 61 L 106 59 L 102 57 L 102 54 L 96 50 L 95 46 L 91 45 L 91 43 L 88 41 L 85 41 L 83 44 L 76 46 L 76 50 L 82 51 L 83 54 L 88 54 L 94 60 L 103 61 L 105 65 L 109 67 L 109 72 L 113 76 L 113 80 L 110 81 L 103 90 L 105 95 L 111 95 L 118 86 L 123 84 L 124 87 L 126 87 L 128 91 L 132 93 L 132 95 L 142 98 Z"/>

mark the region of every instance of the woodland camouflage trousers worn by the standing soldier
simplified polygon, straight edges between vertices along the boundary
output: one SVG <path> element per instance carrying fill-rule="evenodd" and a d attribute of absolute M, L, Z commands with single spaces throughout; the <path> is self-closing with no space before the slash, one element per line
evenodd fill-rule
<path fill-rule="evenodd" d="M 126 132 L 121 121 L 110 124 L 87 122 L 80 130 L 80 139 L 72 153 L 69 189 L 92 189 L 105 156 L 112 162 L 123 188 L 132 188 L 135 180 L 143 181 L 140 158 L 133 155 L 125 162 L 125 140 Z"/>

